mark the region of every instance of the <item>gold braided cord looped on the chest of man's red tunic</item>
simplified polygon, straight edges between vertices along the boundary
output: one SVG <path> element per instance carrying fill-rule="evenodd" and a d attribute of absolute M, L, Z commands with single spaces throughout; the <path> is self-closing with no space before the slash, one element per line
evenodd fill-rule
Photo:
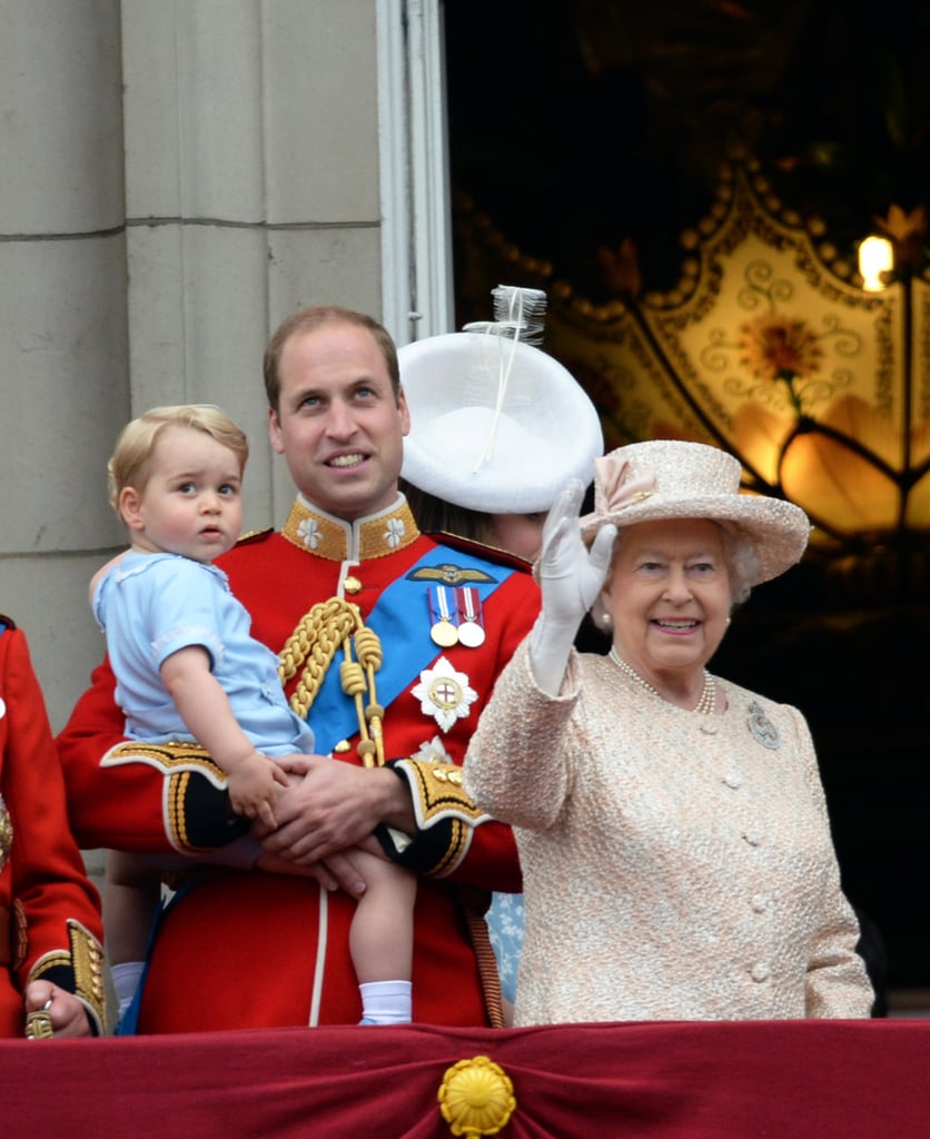
<path fill-rule="evenodd" d="M 357 661 L 352 659 L 353 638 Z M 377 704 L 375 673 L 381 667 L 383 654 L 377 633 L 365 628 L 357 605 L 341 597 L 331 597 L 304 614 L 280 652 L 278 675 L 286 685 L 303 667 L 291 697 L 291 707 L 307 719 L 340 647 L 345 653 L 345 661 L 340 667 L 340 683 L 345 695 L 356 703 L 361 737 L 359 755 L 367 768 L 381 767 L 384 763 L 384 708 Z"/>

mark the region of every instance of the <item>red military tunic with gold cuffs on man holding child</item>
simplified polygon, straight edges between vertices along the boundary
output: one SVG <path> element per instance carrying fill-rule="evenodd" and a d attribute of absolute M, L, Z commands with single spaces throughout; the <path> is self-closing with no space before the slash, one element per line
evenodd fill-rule
<path fill-rule="evenodd" d="M 487 1023 L 466 908 L 492 888 L 519 890 L 520 874 L 509 829 L 487 820 L 473 825 L 456 768 L 497 675 L 538 613 L 538 588 L 525 565 L 421 534 L 402 498 L 352 525 L 299 500 L 282 533 L 244 540 L 221 565 L 252 614 L 253 634 L 275 652 L 313 606 L 334 597 L 357 605 L 366 626 L 377 631 L 384 755 L 400 760 L 395 770 L 408 781 L 418 821 L 402 855 L 421 874 L 414 1019 Z M 440 648 L 430 639 L 437 616 L 430 601 L 435 609 L 459 587 L 479 592 L 474 615 L 484 640 Z M 337 669 L 329 671 L 335 683 Z M 288 690 L 300 675 L 299 667 Z M 337 683 L 316 696 L 309 721 L 320 752 L 360 762 L 354 704 Z M 147 754 L 100 764 L 121 743 L 121 726 L 104 664 L 59 739 L 82 845 L 160 853 L 228 841 L 218 772 L 211 781 L 201 772 L 165 770 Z M 327 894 L 312 879 L 236 869 L 198 868 L 190 882 L 160 928 L 139 1031 L 358 1022 L 348 941 L 354 902 L 348 895 Z"/>

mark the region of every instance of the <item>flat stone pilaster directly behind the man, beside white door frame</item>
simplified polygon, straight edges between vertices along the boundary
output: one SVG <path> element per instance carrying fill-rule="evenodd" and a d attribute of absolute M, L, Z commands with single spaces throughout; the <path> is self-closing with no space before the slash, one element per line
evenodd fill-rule
<path fill-rule="evenodd" d="M 252 442 L 246 527 L 278 524 L 264 344 L 316 301 L 381 310 L 375 5 L 122 7 L 133 412 L 223 407 Z"/>

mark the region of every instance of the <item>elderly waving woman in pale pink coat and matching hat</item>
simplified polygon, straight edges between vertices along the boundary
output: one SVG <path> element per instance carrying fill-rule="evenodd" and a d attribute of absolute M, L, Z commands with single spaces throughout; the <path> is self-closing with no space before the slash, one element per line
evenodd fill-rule
<path fill-rule="evenodd" d="M 596 468 L 593 514 L 577 483 L 549 513 L 542 612 L 465 761 L 520 851 L 515 1023 L 867 1017 L 805 719 L 707 671 L 807 517 L 740 494 L 737 460 L 703 444 Z M 572 647 L 592 608 L 607 656 Z"/>

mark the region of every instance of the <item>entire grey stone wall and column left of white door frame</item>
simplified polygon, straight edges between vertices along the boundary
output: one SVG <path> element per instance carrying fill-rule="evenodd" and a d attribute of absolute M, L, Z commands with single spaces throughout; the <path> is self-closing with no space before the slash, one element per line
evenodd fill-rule
<path fill-rule="evenodd" d="M 56 729 L 103 653 L 87 582 L 123 543 L 105 466 L 127 419 L 222 405 L 252 442 L 245 525 L 279 524 L 268 336 L 315 301 L 382 311 L 385 10 L 0 0 L 0 612 Z"/>

